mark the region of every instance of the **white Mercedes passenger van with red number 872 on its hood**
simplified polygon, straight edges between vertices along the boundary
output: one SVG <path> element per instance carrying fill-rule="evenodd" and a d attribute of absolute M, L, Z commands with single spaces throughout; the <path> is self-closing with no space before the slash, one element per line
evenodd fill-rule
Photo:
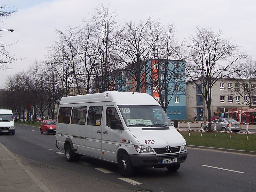
<path fill-rule="evenodd" d="M 95 157 L 117 163 L 120 173 L 130 176 L 135 167 L 177 171 L 187 158 L 185 139 L 146 93 L 63 97 L 58 113 L 56 147 L 68 161 Z"/>

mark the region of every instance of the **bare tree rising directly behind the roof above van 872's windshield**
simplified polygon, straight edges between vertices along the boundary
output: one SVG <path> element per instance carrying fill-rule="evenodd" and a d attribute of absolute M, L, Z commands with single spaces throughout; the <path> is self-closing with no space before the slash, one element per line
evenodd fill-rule
<path fill-rule="evenodd" d="M 141 83 L 146 80 L 146 61 L 151 57 L 151 45 L 148 44 L 149 24 L 150 18 L 146 21 L 140 21 L 139 24 L 126 21 L 117 36 L 120 57 L 123 58 L 127 73 L 136 82 L 136 92 L 140 92 Z"/>

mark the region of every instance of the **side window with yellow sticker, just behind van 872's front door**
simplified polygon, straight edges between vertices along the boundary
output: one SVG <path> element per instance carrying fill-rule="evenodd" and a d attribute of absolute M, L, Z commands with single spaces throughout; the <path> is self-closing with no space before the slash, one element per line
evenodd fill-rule
<path fill-rule="evenodd" d="M 103 106 L 89 107 L 87 125 L 100 126 Z"/>

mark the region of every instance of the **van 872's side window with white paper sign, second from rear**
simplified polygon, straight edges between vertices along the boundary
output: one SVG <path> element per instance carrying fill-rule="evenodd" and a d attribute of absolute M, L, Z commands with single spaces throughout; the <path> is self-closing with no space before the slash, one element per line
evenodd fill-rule
<path fill-rule="evenodd" d="M 87 107 L 73 107 L 71 124 L 85 124 Z"/>

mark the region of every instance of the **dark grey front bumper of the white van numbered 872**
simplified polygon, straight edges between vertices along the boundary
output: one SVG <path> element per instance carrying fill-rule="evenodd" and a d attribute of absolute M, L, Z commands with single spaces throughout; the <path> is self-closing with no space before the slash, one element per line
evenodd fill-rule
<path fill-rule="evenodd" d="M 169 167 L 171 165 L 180 164 L 186 161 L 188 152 L 167 155 L 134 155 L 129 154 L 132 165 L 134 167 Z M 163 159 L 177 158 L 177 163 L 162 164 Z"/>

